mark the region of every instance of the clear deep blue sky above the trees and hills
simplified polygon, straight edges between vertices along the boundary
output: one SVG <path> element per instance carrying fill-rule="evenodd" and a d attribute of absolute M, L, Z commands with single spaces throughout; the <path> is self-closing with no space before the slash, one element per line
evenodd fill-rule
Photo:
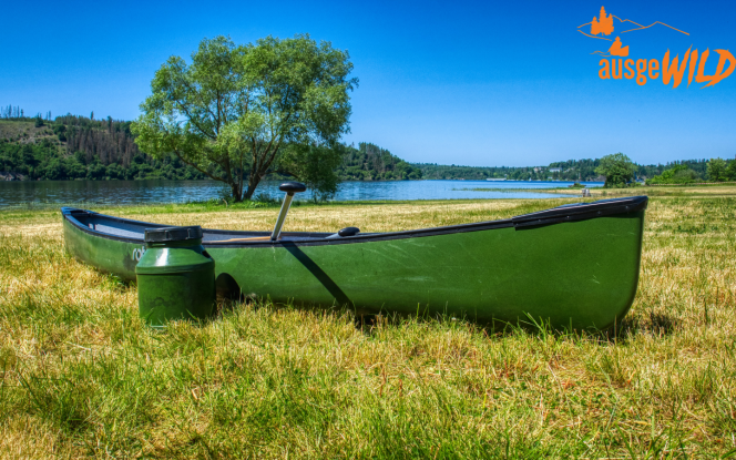
<path fill-rule="evenodd" d="M 170 55 L 188 58 L 205 37 L 243 43 L 308 32 L 347 49 L 360 79 L 346 141 L 411 162 L 522 166 L 615 152 L 647 164 L 733 159 L 736 72 L 708 89 L 599 79 L 600 58 L 590 53 L 609 42 L 576 27 L 602 4 L 689 32 L 655 25 L 625 34 L 633 59 L 709 48 L 707 74 L 714 49 L 736 54 L 733 0 L 8 2 L 0 104 L 131 120 L 156 69 Z"/>

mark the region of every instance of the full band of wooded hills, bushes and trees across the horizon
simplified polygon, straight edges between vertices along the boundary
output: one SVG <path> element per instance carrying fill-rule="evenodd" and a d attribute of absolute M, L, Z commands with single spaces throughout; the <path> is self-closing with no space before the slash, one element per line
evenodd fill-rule
<path fill-rule="evenodd" d="M 3 114 L 21 115 L 19 106 L 8 105 Z M 35 117 L 4 116 L 0 120 L 0 173 L 28 180 L 203 180 L 208 176 L 173 153 L 157 156 L 142 152 L 131 130 L 132 122 L 67 114 L 51 120 L 51 113 Z M 9 130 L 8 127 L 16 127 Z M 606 176 L 611 186 L 646 178 L 647 184 L 688 184 L 736 181 L 736 161 L 722 159 L 685 160 L 665 164 L 638 165 L 625 160 L 569 160 L 549 166 L 476 167 L 411 164 L 374 143 L 339 147 L 297 149 L 285 144 L 286 153 L 266 170 L 266 180 L 300 176 L 314 190 L 336 191 L 339 181 L 395 180 L 563 180 L 592 181 Z M 606 160 L 607 159 L 607 160 Z M 609 162 L 609 163 L 606 163 Z M 605 165 L 604 165 L 605 163 Z M 615 166 L 612 166 L 615 165 Z M 602 167 L 604 166 L 604 167 Z M 211 166 L 222 173 L 218 166 Z M 245 167 L 245 173 L 251 172 Z M 330 192 L 333 191 L 333 192 Z"/>

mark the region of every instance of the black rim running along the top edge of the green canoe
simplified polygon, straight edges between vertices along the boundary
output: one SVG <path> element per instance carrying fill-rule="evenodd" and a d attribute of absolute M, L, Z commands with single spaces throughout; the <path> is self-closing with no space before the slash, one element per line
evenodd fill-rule
<path fill-rule="evenodd" d="M 488 229 L 509 228 L 515 229 L 531 229 L 534 227 L 554 225 L 564 222 L 577 222 L 597 217 L 611 217 L 615 215 L 625 215 L 643 211 L 647 206 L 648 197 L 633 196 L 625 198 L 603 200 L 592 203 L 573 203 L 554 207 L 551 209 L 540 211 L 536 213 L 524 214 L 514 216 L 508 219 L 488 221 L 471 224 L 450 225 L 432 228 L 419 228 L 402 232 L 387 232 L 387 233 L 366 233 L 357 234 L 355 236 L 345 236 L 341 238 L 327 238 L 335 233 L 317 233 L 317 232 L 288 232 L 283 235 L 286 237 L 304 237 L 308 239 L 280 239 L 280 241 L 253 241 L 253 242 L 226 242 L 226 241 L 203 241 L 205 247 L 217 248 L 235 248 L 235 247 L 275 247 L 275 246 L 318 246 L 318 245 L 336 245 L 349 243 L 368 243 L 377 241 L 403 239 L 422 236 L 437 236 L 437 235 L 451 235 L 466 232 L 480 232 Z M 125 243 L 144 244 L 143 236 L 141 238 L 126 237 L 121 235 L 109 234 L 92 229 L 78 221 L 76 216 L 96 216 L 100 218 L 109 219 L 111 222 L 125 223 L 129 225 L 140 226 L 141 228 L 159 228 L 168 225 L 154 224 L 150 222 L 141 222 L 126 219 L 122 217 L 109 216 L 93 211 L 79 209 L 72 207 L 62 207 L 61 213 L 63 218 L 69 221 L 75 228 L 88 233 L 90 235 L 102 237 L 106 239 L 114 239 Z M 222 229 L 207 229 L 203 232 L 206 234 L 227 234 L 237 235 L 243 234 L 247 236 L 269 235 L 270 232 L 239 232 L 239 231 L 222 231 Z"/>

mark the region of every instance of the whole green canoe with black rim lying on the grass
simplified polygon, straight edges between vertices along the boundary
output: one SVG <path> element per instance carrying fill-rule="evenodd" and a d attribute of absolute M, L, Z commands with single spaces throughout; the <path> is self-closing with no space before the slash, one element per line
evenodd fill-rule
<path fill-rule="evenodd" d="M 606 329 L 636 294 L 646 204 L 636 196 L 408 232 L 285 232 L 278 241 L 204 229 L 203 245 L 221 295 Z M 73 256 L 130 280 L 144 229 L 165 227 L 70 207 L 62 215 Z"/>

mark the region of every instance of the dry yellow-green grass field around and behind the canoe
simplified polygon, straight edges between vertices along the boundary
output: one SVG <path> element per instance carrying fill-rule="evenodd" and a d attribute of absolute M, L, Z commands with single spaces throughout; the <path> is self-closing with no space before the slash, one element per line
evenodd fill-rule
<path fill-rule="evenodd" d="M 736 456 L 733 194 L 652 198 L 638 294 L 609 337 L 441 318 L 360 330 L 347 311 L 263 304 L 155 333 L 134 284 L 65 255 L 58 211 L 0 212 L 0 456 Z M 570 201 L 301 205 L 286 229 L 408 229 Z M 276 214 L 96 211 L 237 229 Z"/>

